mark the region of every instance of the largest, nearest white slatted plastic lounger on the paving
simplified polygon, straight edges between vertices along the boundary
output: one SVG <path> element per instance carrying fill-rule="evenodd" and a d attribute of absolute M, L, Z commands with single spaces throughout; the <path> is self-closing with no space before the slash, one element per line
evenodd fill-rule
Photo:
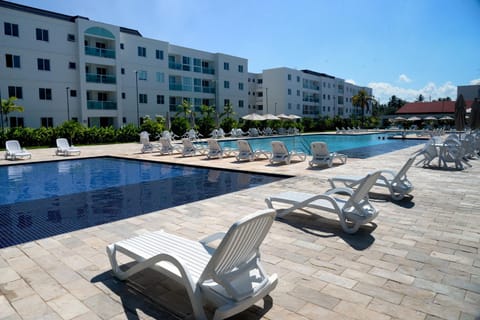
<path fill-rule="evenodd" d="M 206 319 L 206 304 L 216 307 L 214 319 L 223 319 L 248 309 L 277 285 L 277 275 L 266 274 L 259 252 L 274 218 L 273 210 L 258 211 L 234 223 L 227 233 L 200 241 L 163 231 L 148 233 L 109 245 L 107 254 L 117 278 L 152 268 L 185 286 L 195 319 Z M 209 246 L 219 238 L 216 249 Z M 117 252 L 137 263 L 122 271 Z"/>

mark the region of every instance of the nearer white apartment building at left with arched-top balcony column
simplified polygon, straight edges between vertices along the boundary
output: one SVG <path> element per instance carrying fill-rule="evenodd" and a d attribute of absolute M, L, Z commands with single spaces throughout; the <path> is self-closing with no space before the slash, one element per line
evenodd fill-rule
<path fill-rule="evenodd" d="M 0 1 L 0 94 L 24 112 L 10 126 L 138 124 L 174 115 L 183 100 L 196 110 L 242 115 L 248 102 L 248 61 L 147 39 L 132 29 L 81 16 Z M 248 111 L 243 112 L 246 114 Z"/>

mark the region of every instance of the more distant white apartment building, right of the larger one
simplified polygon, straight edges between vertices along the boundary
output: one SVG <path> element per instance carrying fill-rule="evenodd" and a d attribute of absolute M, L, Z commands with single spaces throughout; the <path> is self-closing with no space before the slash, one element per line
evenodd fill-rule
<path fill-rule="evenodd" d="M 352 97 L 360 90 L 372 96 L 372 89 L 345 82 L 324 73 L 291 68 L 263 70 L 249 74 L 250 112 L 295 114 L 301 117 L 348 118 L 360 115 Z M 369 108 L 366 115 L 371 114 Z"/>

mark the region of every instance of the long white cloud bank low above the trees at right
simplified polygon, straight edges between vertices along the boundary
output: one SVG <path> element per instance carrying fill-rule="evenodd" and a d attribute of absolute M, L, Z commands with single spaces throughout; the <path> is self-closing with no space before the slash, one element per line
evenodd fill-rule
<path fill-rule="evenodd" d="M 416 101 L 420 94 L 426 101 L 446 97 L 455 100 L 457 96 L 457 87 L 451 82 L 446 82 L 440 86 L 429 82 L 420 89 L 402 88 L 386 82 L 371 82 L 368 86 L 373 89 L 373 95 L 380 103 L 387 103 L 393 95 L 408 102 Z"/>

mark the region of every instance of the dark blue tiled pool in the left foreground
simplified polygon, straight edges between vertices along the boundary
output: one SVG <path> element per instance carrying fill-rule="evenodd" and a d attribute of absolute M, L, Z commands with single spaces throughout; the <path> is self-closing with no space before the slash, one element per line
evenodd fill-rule
<path fill-rule="evenodd" d="M 93 158 L 0 166 L 0 179 L 0 248 L 4 248 L 282 177 Z"/>

